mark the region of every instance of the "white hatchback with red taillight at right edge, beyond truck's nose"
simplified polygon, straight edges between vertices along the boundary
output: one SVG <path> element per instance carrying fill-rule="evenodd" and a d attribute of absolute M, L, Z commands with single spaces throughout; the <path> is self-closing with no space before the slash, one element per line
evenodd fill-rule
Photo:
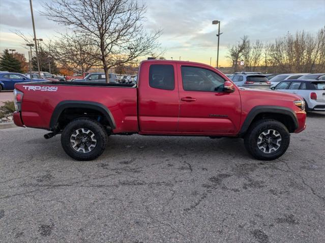
<path fill-rule="evenodd" d="M 300 95 L 306 102 L 306 111 L 325 111 L 325 81 L 285 80 L 273 89 Z"/>

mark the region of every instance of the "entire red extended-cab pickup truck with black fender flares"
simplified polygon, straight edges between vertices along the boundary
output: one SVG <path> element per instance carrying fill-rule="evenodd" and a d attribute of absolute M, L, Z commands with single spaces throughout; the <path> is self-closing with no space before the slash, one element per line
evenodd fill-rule
<path fill-rule="evenodd" d="M 37 82 L 15 85 L 17 126 L 61 133 L 77 160 L 100 156 L 113 134 L 243 137 L 260 160 L 280 157 L 290 133 L 305 129 L 296 95 L 235 86 L 215 68 L 195 62 L 146 60 L 138 83 Z"/>

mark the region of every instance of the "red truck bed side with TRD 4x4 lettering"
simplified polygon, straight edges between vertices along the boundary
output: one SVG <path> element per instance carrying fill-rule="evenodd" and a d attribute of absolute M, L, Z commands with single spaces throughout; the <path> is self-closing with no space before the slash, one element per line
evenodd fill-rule
<path fill-rule="evenodd" d="M 15 88 L 23 92 L 21 119 L 25 126 L 50 130 L 54 110 L 63 103 L 96 103 L 106 107 L 116 124 L 115 133 L 137 132 L 137 89 L 132 84 L 87 82 L 28 82 Z"/>

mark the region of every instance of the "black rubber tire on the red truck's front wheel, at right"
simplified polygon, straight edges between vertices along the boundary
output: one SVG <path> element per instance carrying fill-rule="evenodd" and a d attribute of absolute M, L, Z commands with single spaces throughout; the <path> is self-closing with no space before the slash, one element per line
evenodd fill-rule
<path fill-rule="evenodd" d="M 264 137 L 263 132 L 266 134 L 269 132 L 271 135 Z M 277 136 L 274 134 L 277 134 Z M 278 134 L 280 134 L 280 136 Z M 261 137 L 265 139 L 262 140 Z M 270 143 L 271 146 L 268 144 L 269 138 L 267 137 L 272 139 L 272 142 Z M 276 142 L 281 139 L 281 141 L 279 141 L 280 146 L 277 146 L 275 144 L 276 142 L 273 142 L 273 139 Z M 258 160 L 274 160 L 281 157 L 288 149 L 290 144 L 290 133 L 286 126 L 281 122 L 273 119 L 262 119 L 254 122 L 250 126 L 244 137 L 244 143 L 247 152 L 254 158 Z M 259 145 L 260 148 L 258 147 L 258 143 L 261 143 Z M 276 149 L 276 151 L 271 151 L 274 149 Z"/>

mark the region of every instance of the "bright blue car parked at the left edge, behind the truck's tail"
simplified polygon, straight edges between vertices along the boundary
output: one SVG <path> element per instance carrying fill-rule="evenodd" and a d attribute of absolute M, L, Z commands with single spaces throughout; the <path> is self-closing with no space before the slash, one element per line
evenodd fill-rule
<path fill-rule="evenodd" d="M 0 92 L 2 90 L 13 90 L 15 83 L 24 83 L 31 81 L 45 81 L 44 79 L 29 79 L 27 76 L 18 73 L 0 73 Z"/>

